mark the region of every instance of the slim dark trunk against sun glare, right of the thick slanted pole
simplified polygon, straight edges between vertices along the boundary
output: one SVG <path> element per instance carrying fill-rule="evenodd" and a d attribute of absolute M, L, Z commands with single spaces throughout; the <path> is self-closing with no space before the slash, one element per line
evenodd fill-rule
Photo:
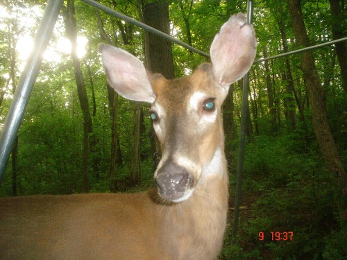
<path fill-rule="evenodd" d="M 87 91 L 85 88 L 85 81 L 81 69 L 81 63 L 77 55 L 77 30 L 74 0 L 67 0 L 67 10 L 64 15 L 65 28 L 67 37 L 71 41 L 71 58 L 74 66 L 74 73 L 77 85 L 78 99 L 80 101 L 81 110 L 83 113 L 83 192 L 89 191 L 89 178 L 88 178 L 88 162 L 89 162 L 89 135 L 92 132 L 92 118 L 89 112 L 89 102 Z"/>

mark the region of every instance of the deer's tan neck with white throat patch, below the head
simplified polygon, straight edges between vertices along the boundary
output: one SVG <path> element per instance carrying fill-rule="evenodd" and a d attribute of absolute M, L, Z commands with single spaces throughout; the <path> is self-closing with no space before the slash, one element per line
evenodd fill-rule
<path fill-rule="evenodd" d="M 228 211 L 228 173 L 221 148 L 203 175 L 191 198 L 158 206 L 158 235 L 167 259 L 213 259 L 221 250 Z"/>

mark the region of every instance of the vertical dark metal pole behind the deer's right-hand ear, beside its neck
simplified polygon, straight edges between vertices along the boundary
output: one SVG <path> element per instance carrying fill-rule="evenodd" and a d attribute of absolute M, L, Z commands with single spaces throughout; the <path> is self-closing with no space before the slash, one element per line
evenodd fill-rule
<path fill-rule="evenodd" d="M 248 24 L 252 24 L 253 16 L 253 1 L 248 0 L 247 3 L 247 19 Z M 248 89 L 249 89 L 249 73 L 244 76 L 244 85 L 242 88 L 242 108 L 241 108 L 241 129 L 239 137 L 239 159 L 237 163 L 236 174 L 236 188 L 235 188 L 235 211 L 234 211 L 234 225 L 232 227 L 232 240 L 237 236 L 237 227 L 239 225 L 239 204 L 241 199 L 242 190 L 242 171 L 244 168 L 244 146 L 246 137 L 247 126 L 247 112 L 248 112 Z"/>

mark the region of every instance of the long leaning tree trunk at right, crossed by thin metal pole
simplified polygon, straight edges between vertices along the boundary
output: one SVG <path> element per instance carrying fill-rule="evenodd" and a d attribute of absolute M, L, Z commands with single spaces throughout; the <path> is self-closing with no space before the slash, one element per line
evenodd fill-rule
<path fill-rule="evenodd" d="M 296 38 L 296 44 L 301 47 L 310 46 L 307 31 L 303 21 L 303 13 L 301 10 L 301 0 L 287 0 L 289 14 L 293 31 Z M 325 90 L 321 85 L 316 64 L 314 64 L 314 56 L 307 51 L 301 54 L 301 63 L 303 67 L 303 77 L 307 85 L 307 91 L 310 95 L 310 105 L 312 110 L 312 125 L 314 134 L 319 144 L 319 148 L 323 155 L 325 165 L 333 174 L 333 182 L 338 194 L 337 206 L 339 209 L 339 217 L 341 223 L 344 222 L 346 216 L 344 211 L 344 196 L 346 194 L 346 173 L 344 166 L 341 164 L 339 153 L 332 137 L 330 125 L 325 105 Z"/>

